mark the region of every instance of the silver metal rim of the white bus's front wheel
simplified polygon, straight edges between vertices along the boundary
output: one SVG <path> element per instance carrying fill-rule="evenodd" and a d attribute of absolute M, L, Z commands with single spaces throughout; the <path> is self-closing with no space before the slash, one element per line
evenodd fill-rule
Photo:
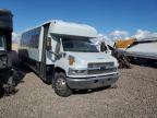
<path fill-rule="evenodd" d="M 62 78 L 57 79 L 57 81 L 56 81 L 56 88 L 58 91 L 64 90 L 65 86 L 67 86 L 65 81 Z"/>

